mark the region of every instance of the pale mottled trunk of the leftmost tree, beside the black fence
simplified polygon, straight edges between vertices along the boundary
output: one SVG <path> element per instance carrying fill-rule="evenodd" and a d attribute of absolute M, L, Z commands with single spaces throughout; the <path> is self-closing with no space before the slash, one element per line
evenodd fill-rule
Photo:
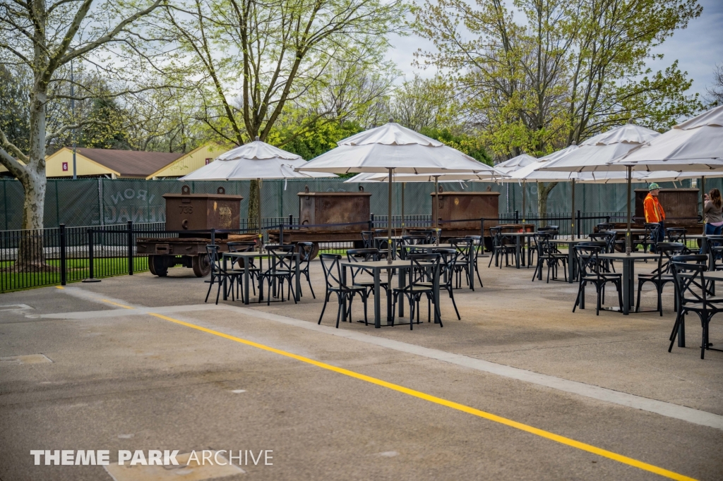
<path fill-rule="evenodd" d="M 15 272 L 55 270 L 48 266 L 43 251 L 43 214 L 46 193 L 46 92 L 30 97 L 30 155 L 18 180 L 25 191 L 22 205 L 22 234 L 17 246 Z"/>

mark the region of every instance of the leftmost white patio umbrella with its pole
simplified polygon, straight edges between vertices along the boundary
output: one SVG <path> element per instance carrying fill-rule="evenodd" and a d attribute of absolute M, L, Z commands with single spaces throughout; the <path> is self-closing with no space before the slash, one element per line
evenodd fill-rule
<path fill-rule="evenodd" d="M 179 181 L 246 181 L 256 179 L 259 196 L 259 202 L 257 203 L 258 228 L 259 233 L 261 233 L 262 179 L 336 177 L 334 174 L 301 173 L 295 170 L 303 167 L 306 163 L 307 161 L 302 159 L 300 155 L 261 142 L 256 137 L 254 142 L 249 142 L 219 155 L 210 164 L 181 177 Z"/>

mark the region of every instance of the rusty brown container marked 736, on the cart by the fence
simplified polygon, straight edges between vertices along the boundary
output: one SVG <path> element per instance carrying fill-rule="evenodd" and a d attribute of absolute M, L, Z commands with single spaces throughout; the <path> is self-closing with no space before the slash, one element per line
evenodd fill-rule
<path fill-rule="evenodd" d="M 166 230 L 238 229 L 241 224 L 241 196 L 191 194 L 189 186 L 181 194 L 163 194 L 166 199 Z"/>

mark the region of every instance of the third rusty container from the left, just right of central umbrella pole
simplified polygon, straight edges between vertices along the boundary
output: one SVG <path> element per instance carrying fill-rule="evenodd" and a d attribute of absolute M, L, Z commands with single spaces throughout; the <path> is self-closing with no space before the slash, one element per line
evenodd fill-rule
<path fill-rule="evenodd" d="M 497 225 L 496 219 L 500 212 L 499 192 L 440 192 L 438 202 L 435 202 L 434 193 L 430 195 L 432 195 L 432 219 L 474 219 L 467 222 L 444 222 L 440 225 L 442 229 L 475 229 L 479 233 L 479 219 L 483 217 L 495 219 L 484 222 L 485 230 Z"/>

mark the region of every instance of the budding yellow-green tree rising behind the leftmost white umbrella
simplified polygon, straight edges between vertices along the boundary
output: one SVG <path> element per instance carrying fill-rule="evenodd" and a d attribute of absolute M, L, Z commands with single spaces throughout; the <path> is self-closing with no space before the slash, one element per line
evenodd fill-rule
<path fill-rule="evenodd" d="M 315 97 L 340 63 L 375 71 L 387 35 L 401 29 L 405 11 L 401 0 L 187 0 L 169 5 L 156 31 L 179 45 L 168 76 L 202 76 L 197 118 L 219 140 L 241 145 L 256 136 L 266 140 L 286 109 Z M 341 120 L 336 105 L 317 106 L 307 109 L 291 135 L 322 119 Z M 251 192 L 254 219 L 255 181 Z"/>

